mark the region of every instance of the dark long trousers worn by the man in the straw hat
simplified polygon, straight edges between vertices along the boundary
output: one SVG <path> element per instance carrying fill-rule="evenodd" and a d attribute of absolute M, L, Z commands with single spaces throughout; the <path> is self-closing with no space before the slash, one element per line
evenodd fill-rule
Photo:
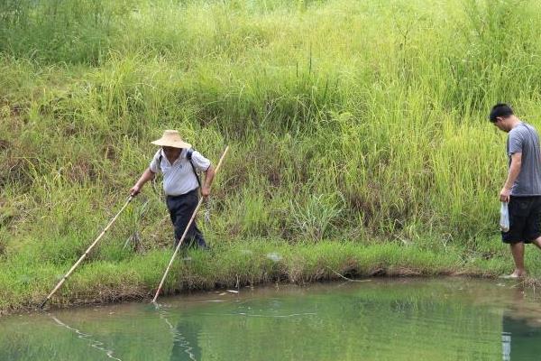
<path fill-rule="evenodd" d="M 179 240 L 188 226 L 189 219 L 197 208 L 199 201 L 197 190 L 191 190 L 180 196 L 167 196 L 167 208 L 170 211 L 171 222 L 173 222 L 173 226 L 175 227 L 175 247 L 179 244 Z M 189 227 L 182 244 L 198 245 L 206 248 L 205 238 L 203 238 L 201 231 L 197 228 L 195 219 Z"/>

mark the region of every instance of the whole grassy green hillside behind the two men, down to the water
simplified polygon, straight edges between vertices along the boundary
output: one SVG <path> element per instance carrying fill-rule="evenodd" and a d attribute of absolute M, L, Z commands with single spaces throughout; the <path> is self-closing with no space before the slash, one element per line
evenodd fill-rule
<path fill-rule="evenodd" d="M 41 299 L 69 269 L 163 129 L 214 161 L 232 147 L 204 226 L 215 253 L 170 290 L 184 274 L 194 287 L 326 278 L 347 271 L 346 248 L 359 274 L 380 252 L 388 270 L 509 270 L 505 134 L 486 115 L 506 101 L 541 127 L 540 14 L 526 0 L 3 3 L 1 307 Z M 172 232 L 160 185 L 140 199 L 57 302 L 155 286 Z M 142 246 L 123 249 L 136 230 Z M 239 250 L 269 242 L 287 262 L 234 273 Z"/>

